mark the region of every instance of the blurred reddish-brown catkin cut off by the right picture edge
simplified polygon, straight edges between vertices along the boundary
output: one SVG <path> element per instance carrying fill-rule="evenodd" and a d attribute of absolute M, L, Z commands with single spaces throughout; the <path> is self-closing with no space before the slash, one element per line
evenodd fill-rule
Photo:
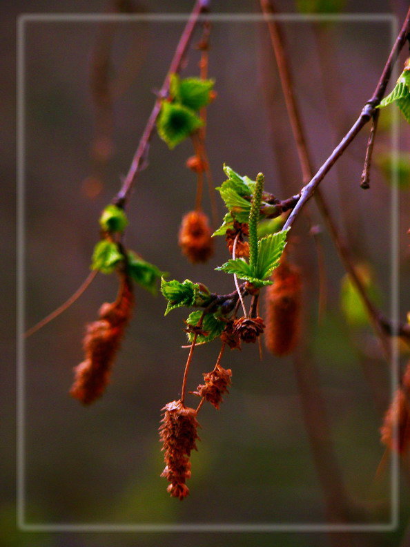
<path fill-rule="evenodd" d="M 393 401 L 384 414 L 383 425 L 380 428 L 380 441 L 390 450 L 404 452 L 410 441 L 410 362 L 402 378 L 402 385 L 396 391 Z M 397 429 L 397 439 L 394 429 Z"/>

